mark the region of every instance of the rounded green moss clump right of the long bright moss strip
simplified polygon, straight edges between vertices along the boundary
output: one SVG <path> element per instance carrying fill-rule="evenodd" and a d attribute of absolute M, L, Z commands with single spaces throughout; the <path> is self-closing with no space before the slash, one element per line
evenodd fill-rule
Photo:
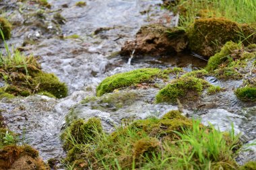
<path fill-rule="evenodd" d="M 209 86 L 207 81 L 195 77 L 174 79 L 158 92 L 156 102 L 176 103 L 177 99 L 181 101 L 195 100 L 201 95 L 203 89 Z"/>

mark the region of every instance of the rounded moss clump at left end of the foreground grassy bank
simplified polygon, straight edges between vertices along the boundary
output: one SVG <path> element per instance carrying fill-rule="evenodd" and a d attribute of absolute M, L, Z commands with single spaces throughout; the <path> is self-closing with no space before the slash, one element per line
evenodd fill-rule
<path fill-rule="evenodd" d="M 64 141 L 63 148 L 69 151 L 73 147 L 73 142 L 77 144 L 91 142 L 101 132 L 102 126 L 98 118 L 90 118 L 87 122 L 82 119 L 75 120 L 61 135 Z"/>

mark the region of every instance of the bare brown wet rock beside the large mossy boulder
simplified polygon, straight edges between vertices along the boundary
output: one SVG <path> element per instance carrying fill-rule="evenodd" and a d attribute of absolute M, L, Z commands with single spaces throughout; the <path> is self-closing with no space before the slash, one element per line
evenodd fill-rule
<path fill-rule="evenodd" d="M 164 56 L 175 52 L 181 52 L 187 47 L 187 36 L 184 30 L 168 28 L 154 24 L 143 26 L 137 32 L 135 41 L 125 42 L 121 48 L 121 55 L 150 54 L 152 56 Z"/>

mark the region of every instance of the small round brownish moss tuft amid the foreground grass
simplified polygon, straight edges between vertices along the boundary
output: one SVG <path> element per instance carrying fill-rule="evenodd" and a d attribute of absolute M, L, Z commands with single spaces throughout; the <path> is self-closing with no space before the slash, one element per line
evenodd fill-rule
<path fill-rule="evenodd" d="M 141 138 L 133 144 L 133 156 L 135 159 L 152 157 L 152 153 L 160 150 L 160 142 L 157 138 Z"/>

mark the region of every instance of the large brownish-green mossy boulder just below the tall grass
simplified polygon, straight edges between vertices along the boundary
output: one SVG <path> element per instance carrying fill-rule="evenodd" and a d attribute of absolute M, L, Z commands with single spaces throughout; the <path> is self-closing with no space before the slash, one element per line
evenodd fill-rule
<path fill-rule="evenodd" d="M 224 18 L 196 19 L 187 32 L 189 49 L 209 58 L 218 52 L 226 42 L 238 42 L 255 31 L 256 29 L 253 27 L 242 26 Z M 243 32 L 243 37 L 239 36 L 238 32 Z M 254 36 L 249 41 L 250 43 L 255 42 Z M 247 44 L 246 41 L 245 44 Z"/>

